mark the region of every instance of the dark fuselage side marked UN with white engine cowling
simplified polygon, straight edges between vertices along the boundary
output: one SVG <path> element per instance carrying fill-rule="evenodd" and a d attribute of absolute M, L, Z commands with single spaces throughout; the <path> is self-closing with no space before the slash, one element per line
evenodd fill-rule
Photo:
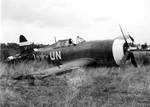
<path fill-rule="evenodd" d="M 123 41 L 118 40 L 89 41 L 58 49 L 39 50 L 34 53 L 34 57 L 58 66 L 86 58 L 93 59 L 100 66 L 118 66 L 123 57 L 123 44 Z"/>

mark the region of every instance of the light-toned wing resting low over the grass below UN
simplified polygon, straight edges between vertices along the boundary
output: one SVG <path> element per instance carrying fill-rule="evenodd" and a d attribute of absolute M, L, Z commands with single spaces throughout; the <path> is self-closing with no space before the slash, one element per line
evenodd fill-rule
<path fill-rule="evenodd" d="M 93 63 L 94 61 L 95 60 L 92 58 L 78 59 L 78 60 L 65 63 L 59 67 L 55 66 L 55 67 L 45 69 L 42 71 L 36 71 L 36 72 L 30 73 L 29 75 L 33 75 L 34 77 L 44 78 L 47 76 L 56 75 L 56 74 L 64 73 L 64 72 L 71 71 L 74 69 L 78 69 L 80 67 L 87 66 L 88 64 Z"/>

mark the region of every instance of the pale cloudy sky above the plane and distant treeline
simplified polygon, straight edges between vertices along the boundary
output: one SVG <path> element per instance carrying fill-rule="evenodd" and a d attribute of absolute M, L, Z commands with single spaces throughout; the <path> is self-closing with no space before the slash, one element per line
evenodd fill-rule
<path fill-rule="evenodd" d="M 1 0 L 0 43 L 43 44 L 77 36 L 114 39 L 125 34 L 150 44 L 150 0 Z"/>

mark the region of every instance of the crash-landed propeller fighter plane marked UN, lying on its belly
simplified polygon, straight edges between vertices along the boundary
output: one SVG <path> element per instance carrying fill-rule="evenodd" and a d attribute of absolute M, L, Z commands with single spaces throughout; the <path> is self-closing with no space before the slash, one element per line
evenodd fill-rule
<path fill-rule="evenodd" d="M 130 45 L 123 31 L 122 35 L 123 39 L 83 41 L 78 44 L 74 44 L 71 39 L 68 39 L 65 42 L 58 41 L 49 47 L 33 49 L 30 52 L 33 59 L 46 60 L 56 66 L 28 75 L 45 77 L 80 67 L 95 65 L 120 66 L 125 64 L 126 60 L 131 60 L 131 63 L 137 67 L 134 55 L 130 51 Z M 20 39 L 20 48 L 23 52 L 27 48 L 28 43 L 23 35 Z"/>

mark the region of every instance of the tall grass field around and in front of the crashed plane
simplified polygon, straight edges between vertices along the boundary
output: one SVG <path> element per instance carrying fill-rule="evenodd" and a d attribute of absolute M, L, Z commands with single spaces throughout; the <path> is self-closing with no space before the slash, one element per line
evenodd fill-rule
<path fill-rule="evenodd" d="M 12 80 L 47 63 L 0 63 L 0 107 L 150 107 L 150 66 L 81 68 L 62 76 Z"/>

